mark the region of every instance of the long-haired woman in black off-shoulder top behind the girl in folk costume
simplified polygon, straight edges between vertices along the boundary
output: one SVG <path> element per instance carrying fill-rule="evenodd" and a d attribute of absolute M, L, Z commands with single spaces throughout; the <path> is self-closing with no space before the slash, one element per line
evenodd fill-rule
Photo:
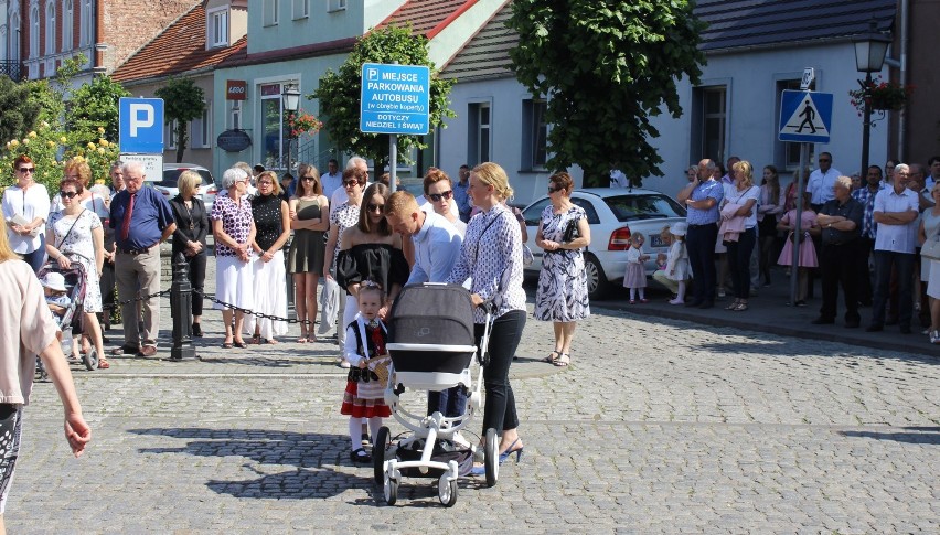
<path fill-rule="evenodd" d="M 359 289 L 363 282 L 372 280 L 385 290 L 384 303 L 378 310 L 378 317 L 384 319 L 392 301 L 408 280 L 408 263 L 402 253 L 402 235 L 394 232 L 385 220 L 385 203 L 391 195 L 392 190 L 383 183 L 370 185 L 362 196 L 359 222 L 346 228 L 340 240 L 337 282 L 346 290 L 343 325 L 349 325 L 355 319 Z"/>

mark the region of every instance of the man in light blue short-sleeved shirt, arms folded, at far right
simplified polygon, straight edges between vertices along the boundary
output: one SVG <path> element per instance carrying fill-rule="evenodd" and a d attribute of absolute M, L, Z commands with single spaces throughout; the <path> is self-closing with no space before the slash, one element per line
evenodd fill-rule
<path fill-rule="evenodd" d="M 876 332 L 885 328 L 885 307 L 894 267 L 898 280 L 898 324 L 901 333 L 909 334 L 914 315 L 914 248 L 920 213 L 917 193 L 907 189 L 910 168 L 898 163 L 894 174 L 891 188 L 875 195 L 874 218 L 878 224 L 875 236 L 875 303 L 872 324 L 866 331 Z"/>

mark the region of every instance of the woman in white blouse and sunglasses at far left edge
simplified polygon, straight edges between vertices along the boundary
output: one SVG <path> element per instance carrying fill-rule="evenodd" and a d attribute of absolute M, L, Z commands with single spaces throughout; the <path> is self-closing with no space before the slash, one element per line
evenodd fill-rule
<path fill-rule="evenodd" d="M 25 154 L 13 160 L 17 183 L 3 190 L 3 220 L 13 253 L 39 271 L 45 259 L 43 231 L 49 220 L 49 192 L 33 178 L 35 163 Z"/>

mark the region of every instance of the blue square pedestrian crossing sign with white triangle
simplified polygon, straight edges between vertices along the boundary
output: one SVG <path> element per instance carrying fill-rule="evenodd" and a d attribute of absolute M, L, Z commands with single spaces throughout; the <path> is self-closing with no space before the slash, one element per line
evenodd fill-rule
<path fill-rule="evenodd" d="M 780 141 L 827 143 L 832 131 L 832 93 L 783 90 Z"/>

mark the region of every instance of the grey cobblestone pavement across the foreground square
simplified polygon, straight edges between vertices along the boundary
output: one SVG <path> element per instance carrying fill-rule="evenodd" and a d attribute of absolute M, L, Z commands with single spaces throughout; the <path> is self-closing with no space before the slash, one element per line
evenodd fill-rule
<path fill-rule="evenodd" d="M 492 489 L 461 480 L 452 509 L 427 479 L 406 479 L 398 505 L 380 504 L 371 468 L 349 461 L 344 373 L 329 343 L 223 351 L 221 320 L 209 313 L 201 361 L 73 367 L 94 428 L 78 460 L 67 454 L 52 386 L 38 385 L 7 525 L 43 534 L 940 532 L 937 357 L 595 312 L 566 370 L 538 362 L 552 349 L 551 324 L 526 324 L 513 365 L 525 454 Z M 119 341 L 119 331 L 109 335 Z M 423 397 L 403 399 L 417 408 Z"/>

